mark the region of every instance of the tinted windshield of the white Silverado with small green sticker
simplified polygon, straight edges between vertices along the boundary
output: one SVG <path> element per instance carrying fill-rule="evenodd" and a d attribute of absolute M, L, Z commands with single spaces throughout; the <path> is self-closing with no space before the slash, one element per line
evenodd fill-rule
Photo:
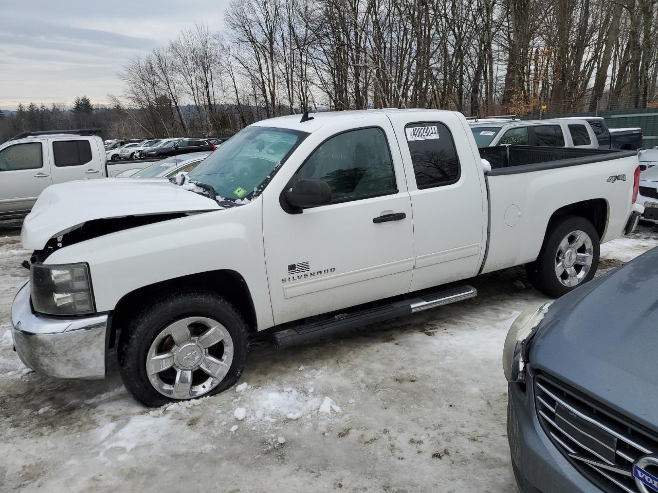
<path fill-rule="evenodd" d="M 251 199 L 308 133 L 247 127 L 222 144 L 189 174 L 226 200 Z"/>

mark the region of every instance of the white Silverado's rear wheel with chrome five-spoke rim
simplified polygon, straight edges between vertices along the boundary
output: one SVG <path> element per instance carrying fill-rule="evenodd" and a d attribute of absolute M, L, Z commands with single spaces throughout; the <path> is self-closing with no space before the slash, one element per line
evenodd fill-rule
<path fill-rule="evenodd" d="M 532 285 L 559 298 L 591 281 L 599 266 L 599 234 L 580 216 L 551 220 L 537 260 L 526 264 Z"/>

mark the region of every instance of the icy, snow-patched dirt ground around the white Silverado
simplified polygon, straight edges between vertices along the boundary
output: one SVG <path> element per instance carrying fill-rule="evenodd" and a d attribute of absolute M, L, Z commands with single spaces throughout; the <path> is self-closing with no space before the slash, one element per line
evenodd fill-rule
<path fill-rule="evenodd" d="M 0 225 L 0 492 L 516 491 L 501 349 L 515 316 L 546 300 L 522 269 L 476 279 L 480 295 L 461 304 L 257 348 L 239 387 L 149 410 L 116 366 L 84 382 L 20 364 L 8 331 L 28 273 L 18 233 Z M 604 245 L 601 265 L 656 245 L 641 227 Z"/>

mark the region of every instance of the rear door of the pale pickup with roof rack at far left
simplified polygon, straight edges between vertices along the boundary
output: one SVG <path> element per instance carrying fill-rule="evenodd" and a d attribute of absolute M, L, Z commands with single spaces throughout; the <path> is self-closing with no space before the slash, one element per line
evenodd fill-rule
<path fill-rule="evenodd" d="M 49 147 L 53 183 L 103 177 L 104 160 L 89 139 L 49 139 Z"/>

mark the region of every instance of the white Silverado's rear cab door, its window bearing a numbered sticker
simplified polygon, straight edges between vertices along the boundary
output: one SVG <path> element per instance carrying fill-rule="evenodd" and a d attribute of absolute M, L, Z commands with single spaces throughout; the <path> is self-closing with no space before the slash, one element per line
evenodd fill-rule
<path fill-rule="evenodd" d="M 404 113 L 389 116 L 413 208 L 411 291 L 475 275 L 486 238 L 486 190 L 480 179 L 480 156 L 474 156 L 467 137 L 470 130 L 453 113 L 423 116 L 422 121 L 411 123 Z M 452 133 L 451 128 L 459 131 Z M 527 127 L 522 129 L 527 132 Z"/>

